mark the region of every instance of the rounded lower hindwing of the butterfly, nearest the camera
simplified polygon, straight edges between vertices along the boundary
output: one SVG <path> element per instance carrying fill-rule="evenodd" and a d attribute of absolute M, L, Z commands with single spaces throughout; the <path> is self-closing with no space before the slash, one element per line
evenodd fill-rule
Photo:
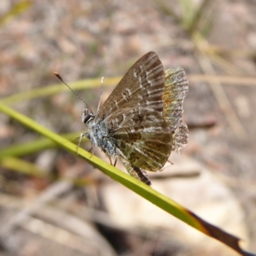
<path fill-rule="evenodd" d="M 122 156 L 138 168 L 156 172 L 172 150 L 172 132 L 161 113 L 145 107 L 132 108 L 111 120 Z"/>

